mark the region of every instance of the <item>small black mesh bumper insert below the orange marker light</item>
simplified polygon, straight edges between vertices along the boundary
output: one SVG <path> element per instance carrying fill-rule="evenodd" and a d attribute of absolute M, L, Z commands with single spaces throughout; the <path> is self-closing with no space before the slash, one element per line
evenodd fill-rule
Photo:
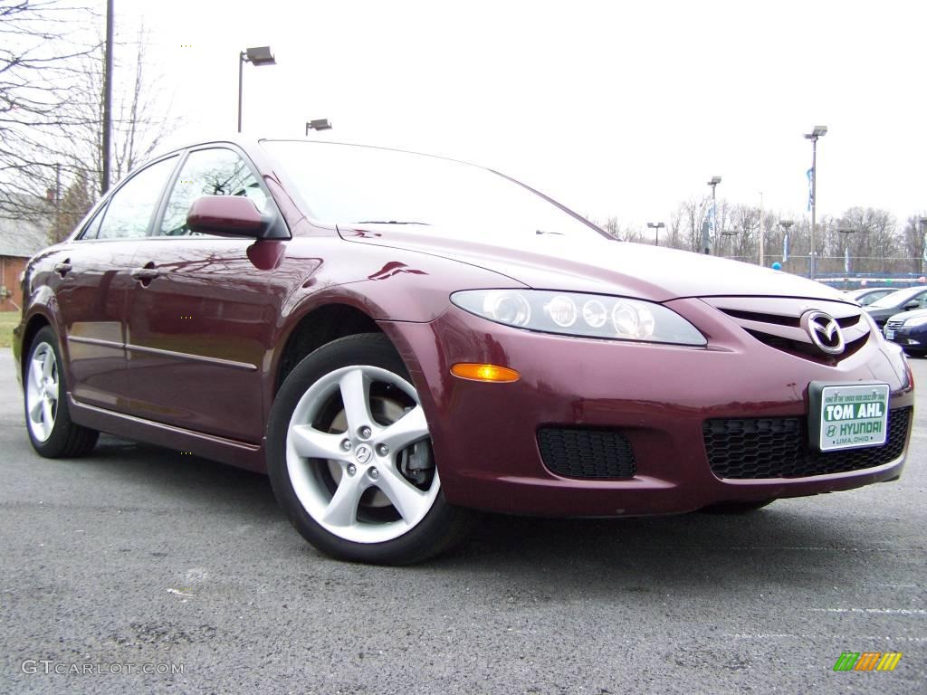
<path fill-rule="evenodd" d="M 615 430 L 544 427 L 538 431 L 541 460 L 570 478 L 631 478 L 637 471 L 628 437 Z"/>

